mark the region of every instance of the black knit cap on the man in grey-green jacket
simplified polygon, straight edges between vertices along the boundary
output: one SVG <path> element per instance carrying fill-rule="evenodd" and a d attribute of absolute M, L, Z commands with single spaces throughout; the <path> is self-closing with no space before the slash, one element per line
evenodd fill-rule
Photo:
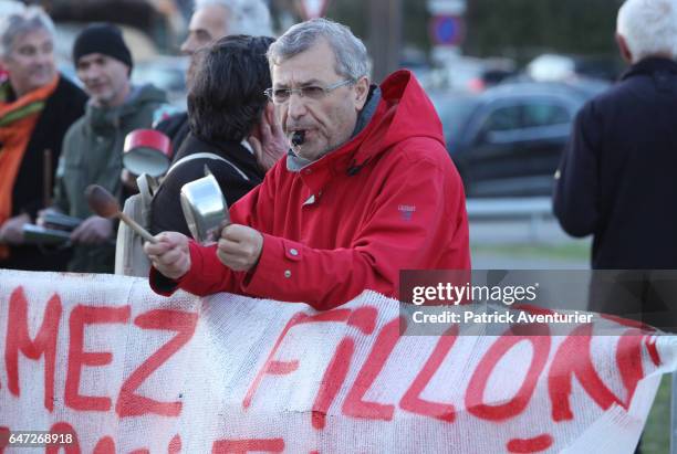
<path fill-rule="evenodd" d="M 112 23 L 93 23 L 87 25 L 75 39 L 73 44 L 73 63 L 84 55 L 103 54 L 123 62 L 129 70 L 133 66 L 132 53 L 125 44 L 122 31 Z"/>

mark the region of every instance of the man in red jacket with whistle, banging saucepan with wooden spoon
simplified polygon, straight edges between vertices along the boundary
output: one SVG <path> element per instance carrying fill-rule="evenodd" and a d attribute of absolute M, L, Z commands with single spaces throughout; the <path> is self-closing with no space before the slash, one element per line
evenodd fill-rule
<path fill-rule="evenodd" d="M 287 159 L 232 205 L 218 244 L 147 243 L 153 288 L 323 310 L 364 289 L 397 297 L 400 270 L 469 268 L 461 180 L 414 75 L 371 86 L 364 44 L 325 19 L 292 27 L 268 57 Z"/>

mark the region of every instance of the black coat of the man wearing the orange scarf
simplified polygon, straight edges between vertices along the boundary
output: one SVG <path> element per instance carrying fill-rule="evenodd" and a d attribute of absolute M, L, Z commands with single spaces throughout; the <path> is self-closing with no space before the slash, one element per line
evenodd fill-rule
<path fill-rule="evenodd" d="M 52 177 L 61 156 L 61 145 L 69 127 L 84 113 L 85 93 L 67 77 L 61 75 L 54 93 L 48 98 L 44 109 L 31 134 L 23 155 L 12 192 L 12 217 L 28 213 L 34 220 L 44 204 L 43 159 L 44 150 L 52 150 Z M 10 257 L 0 262 L 0 267 L 15 270 L 63 271 L 67 256 L 63 253 L 43 254 L 32 245 L 12 246 Z"/>

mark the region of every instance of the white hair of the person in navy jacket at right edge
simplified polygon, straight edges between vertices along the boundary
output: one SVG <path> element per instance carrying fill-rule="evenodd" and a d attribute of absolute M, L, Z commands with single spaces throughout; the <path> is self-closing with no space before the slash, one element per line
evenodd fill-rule
<path fill-rule="evenodd" d="M 625 38 L 633 63 L 653 55 L 677 59 L 677 0 L 627 0 L 616 32 Z"/>

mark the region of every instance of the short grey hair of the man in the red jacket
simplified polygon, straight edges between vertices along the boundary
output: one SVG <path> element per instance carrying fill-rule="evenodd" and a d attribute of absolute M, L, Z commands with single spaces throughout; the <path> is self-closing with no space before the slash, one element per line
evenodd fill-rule
<path fill-rule="evenodd" d="M 326 40 L 334 51 L 336 74 L 351 81 L 368 76 L 369 63 L 364 43 L 350 28 L 327 19 L 312 19 L 291 27 L 268 50 L 268 62 L 280 64 L 301 52 L 305 52 L 320 39 Z"/>

